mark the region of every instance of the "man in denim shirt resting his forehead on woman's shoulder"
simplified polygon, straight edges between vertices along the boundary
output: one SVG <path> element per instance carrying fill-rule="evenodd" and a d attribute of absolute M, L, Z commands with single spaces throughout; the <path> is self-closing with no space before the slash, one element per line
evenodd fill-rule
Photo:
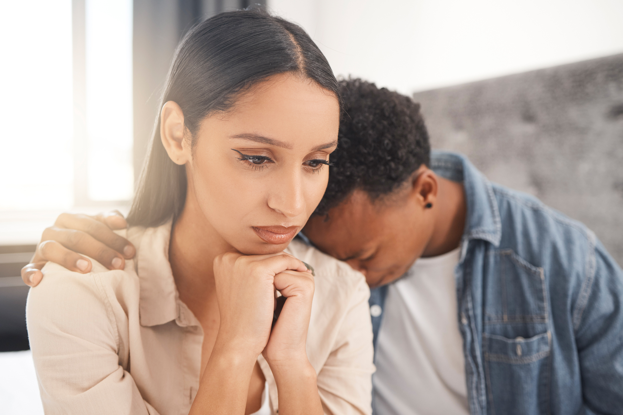
<path fill-rule="evenodd" d="M 361 80 L 343 95 L 328 188 L 303 237 L 373 288 L 375 412 L 623 413 L 623 272 L 594 234 L 459 154 L 431 155 L 410 98 Z M 59 225 L 118 253 L 127 244 L 88 217 Z M 67 248 L 91 238 L 47 232 Z M 97 240 L 81 251 L 122 261 Z M 47 245 L 76 268 L 77 254 Z M 40 280 L 34 266 L 22 274 Z"/>

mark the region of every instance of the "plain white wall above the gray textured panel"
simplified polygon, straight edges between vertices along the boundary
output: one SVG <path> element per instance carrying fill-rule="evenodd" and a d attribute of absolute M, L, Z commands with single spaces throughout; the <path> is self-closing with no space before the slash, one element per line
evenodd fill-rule
<path fill-rule="evenodd" d="M 337 74 L 404 94 L 623 52 L 620 0 L 269 0 Z"/>

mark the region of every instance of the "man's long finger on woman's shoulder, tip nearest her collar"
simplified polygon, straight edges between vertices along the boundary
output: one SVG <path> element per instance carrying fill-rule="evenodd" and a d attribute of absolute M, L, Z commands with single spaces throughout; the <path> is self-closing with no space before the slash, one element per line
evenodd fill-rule
<path fill-rule="evenodd" d="M 105 223 L 99 221 L 97 219 L 98 217 L 102 218 Z M 57 228 L 67 228 L 82 231 L 83 233 L 88 233 L 88 235 L 92 236 L 95 240 L 100 241 L 104 245 L 108 246 L 108 248 L 112 248 L 125 258 L 132 258 L 136 254 L 136 249 L 134 248 L 134 245 L 132 245 L 130 241 L 113 232 L 111 228 L 108 227 L 106 218 L 101 217 L 100 215 L 98 215 L 98 217 L 90 217 L 87 215 L 74 215 L 72 213 L 62 213 L 57 219 L 55 225 Z M 123 222 L 125 223 L 125 219 L 121 218 L 121 220 L 123 220 Z M 47 229 L 45 231 L 47 231 Z M 45 235 L 45 231 L 44 239 L 57 240 L 56 238 Z M 75 237 L 77 238 L 77 236 Z M 74 249 L 75 247 L 75 245 L 67 245 L 65 241 L 57 241 L 61 242 L 67 248 Z M 87 254 L 85 252 L 82 253 Z"/>

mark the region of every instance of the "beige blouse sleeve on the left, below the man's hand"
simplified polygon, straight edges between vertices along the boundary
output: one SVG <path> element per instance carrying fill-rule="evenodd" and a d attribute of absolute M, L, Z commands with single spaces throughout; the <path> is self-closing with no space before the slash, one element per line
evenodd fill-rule
<path fill-rule="evenodd" d="M 108 273 L 122 271 L 108 271 Z M 108 273 L 107 276 L 108 276 Z M 117 322 L 102 274 L 57 264 L 31 288 L 26 320 L 46 414 L 158 414 L 121 366 Z"/>

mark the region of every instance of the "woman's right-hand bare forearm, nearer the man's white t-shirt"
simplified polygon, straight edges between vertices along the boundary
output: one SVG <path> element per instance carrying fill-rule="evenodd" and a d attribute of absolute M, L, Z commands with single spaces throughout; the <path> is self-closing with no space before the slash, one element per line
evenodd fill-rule
<path fill-rule="evenodd" d="M 316 371 L 307 360 L 270 365 L 279 397 L 279 415 L 322 415 Z"/>

